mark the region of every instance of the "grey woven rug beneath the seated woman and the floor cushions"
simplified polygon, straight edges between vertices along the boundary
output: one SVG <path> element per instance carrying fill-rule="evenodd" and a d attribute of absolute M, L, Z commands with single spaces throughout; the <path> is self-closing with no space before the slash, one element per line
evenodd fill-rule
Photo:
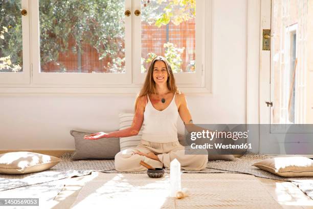
<path fill-rule="evenodd" d="M 64 153 L 60 157 L 62 161 L 47 171 L 24 175 L 0 175 L 0 191 L 10 190 L 17 187 L 33 185 L 37 183 L 59 180 L 63 178 L 70 178 L 74 176 L 85 176 L 91 174 L 91 172 L 93 171 L 98 171 L 102 173 L 146 173 L 146 171 L 118 172 L 115 170 L 114 160 L 73 161 L 71 160 L 71 156 L 73 154 L 74 152 Z M 285 178 L 276 176 L 274 174 L 252 166 L 253 163 L 266 158 L 268 157 L 248 152 L 240 158 L 235 158 L 233 161 L 209 161 L 207 168 L 202 171 L 182 170 L 182 173 L 243 173 L 262 178 L 291 181 L 295 185 L 297 185 L 300 190 L 302 190 L 305 194 L 313 199 L 313 178 Z M 169 173 L 169 170 L 165 169 L 165 173 Z"/>

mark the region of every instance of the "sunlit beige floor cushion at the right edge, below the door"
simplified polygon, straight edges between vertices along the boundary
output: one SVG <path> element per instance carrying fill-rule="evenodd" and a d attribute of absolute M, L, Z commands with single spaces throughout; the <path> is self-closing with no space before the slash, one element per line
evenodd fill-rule
<path fill-rule="evenodd" d="M 313 160 L 307 157 L 275 157 L 253 164 L 259 169 L 283 177 L 313 177 Z"/>

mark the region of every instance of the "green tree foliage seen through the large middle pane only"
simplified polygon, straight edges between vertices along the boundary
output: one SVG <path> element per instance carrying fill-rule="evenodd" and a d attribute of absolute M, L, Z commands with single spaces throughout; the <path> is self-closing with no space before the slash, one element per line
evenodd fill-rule
<path fill-rule="evenodd" d="M 87 44 L 97 50 L 99 59 L 123 56 L 123 11 L 124 1 L 40 0 L 41 62 L 57 60 L 73 39 L 73 53 L 84 53 L 82 44 Z"/>

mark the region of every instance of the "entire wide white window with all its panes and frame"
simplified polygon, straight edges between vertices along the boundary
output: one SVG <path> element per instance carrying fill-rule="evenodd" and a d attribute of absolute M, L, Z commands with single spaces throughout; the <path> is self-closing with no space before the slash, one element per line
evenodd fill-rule
<path fill-rule="evenodd" d="M 0 1 L 1 83 L 138 88 L 151 59 L 162 55 L 180 87 L 210 88 L 203 71 L 210 1 Z"/>

